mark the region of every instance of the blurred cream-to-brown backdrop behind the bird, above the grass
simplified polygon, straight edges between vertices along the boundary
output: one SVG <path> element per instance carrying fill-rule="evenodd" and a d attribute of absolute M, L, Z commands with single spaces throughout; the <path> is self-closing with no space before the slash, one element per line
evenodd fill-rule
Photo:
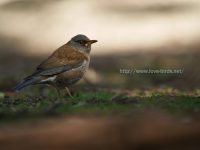
<path fill-rule="evenodd" d="M 9 90 L 76 34 L 93 45 L 86 77 L 127 88 L 199 87 L 198 0 L 1 0 L 0 89 Z M 120 74 L 120 69 L 183 69 L 182 74 Z"/>

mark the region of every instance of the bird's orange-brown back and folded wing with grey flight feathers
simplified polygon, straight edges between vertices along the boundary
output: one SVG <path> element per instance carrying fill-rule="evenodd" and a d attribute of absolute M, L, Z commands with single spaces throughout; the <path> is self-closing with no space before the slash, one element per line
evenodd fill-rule
<path fill-rule="evenodd" d="M 34 74 L 42 76 L 56 75 L 80 67 L 87 59 L 87 56 L 83 53 L 75 51 L 68 45 L 63 45 L 42 62 Z"/>

